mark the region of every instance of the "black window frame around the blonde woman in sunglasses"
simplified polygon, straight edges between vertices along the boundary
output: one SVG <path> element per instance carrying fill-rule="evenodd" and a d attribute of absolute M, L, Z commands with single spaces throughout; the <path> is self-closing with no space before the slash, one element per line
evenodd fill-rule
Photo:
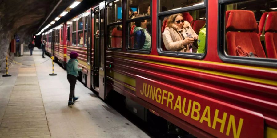
<path fill-rule="evenodd" d="M 202 60 L 207 55 L 208 51 L 208 6 L 207 2 L 208 0 L 203 0 L 203 5 L 196 5 L 196 6 L 189 6 L 189 7 L 183 7 L 180 9 L 175 10 L 168 10 L 160 12 L 160 0 L 157 1 L 157 52 L 160 56 L 172 56 L 172 57 L 182 57 L 187 59 L 199 59 Z M 182 13 L 182 12 L 189 12 L 193 10 L 201 10 L 206 8 L 206 44 L 205 44 L 205 53 L 187 53 L 187 52 L 175 52 L 175 51 L 163 51 L 161 49 L 161 42 L 162 42 L 162 35 L 161 35 L 161 29 L 162 29 L 162 20 L 161 18 L 166 15 L 176 14 L 176 13 Z"/>

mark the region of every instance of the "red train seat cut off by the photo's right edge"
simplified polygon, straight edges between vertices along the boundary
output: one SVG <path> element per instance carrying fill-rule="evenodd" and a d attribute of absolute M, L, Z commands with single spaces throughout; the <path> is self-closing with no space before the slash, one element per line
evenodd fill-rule
<path fill-rule="evenodd" d="M 277 12 L 267 15 L 264 29 L 267 57 L 277 59 Z"/>

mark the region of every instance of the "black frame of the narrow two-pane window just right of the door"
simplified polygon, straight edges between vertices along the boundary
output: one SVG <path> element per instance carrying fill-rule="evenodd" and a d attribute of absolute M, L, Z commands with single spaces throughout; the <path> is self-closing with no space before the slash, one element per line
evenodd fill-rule
<path fill-rule="evenodd" d="M 110 3 L 112 3 L 112 2 L 114 2 L 114 1 L 116 1 L 116 0 L 110 0 L 110 1 L 107 1 L 106 2 L 106 10 L 105 10 L 105 12 L 107 13 L 106 14 L 106 40 L 108 41 L 107 42 L 107 49 L 108 50 L 115 50 L 115 51 L 122 51 L 122 48 L 123 48 L 123 28 L 125 27 L 125 26 L 123 26 L 123 1 L 124 0 L 121 0 L 121 7 L 122 7 L 122 13 L 121 13 L 121 17 L 122 17 L 122 20 L 121 21 L 118 21 L 118 22 L 113 22 L 113 23 L 110 23 L 110 24 L 108 24 L 108 8 L 107 8 L 107 5 L 109 5 Z M 100 12 L 100 9 L 99 9 L 99 12 Z M 109 35 L 110 35 L 110 33 L 109 33 L 109 27 L 111 27 L 111 26 L 115 26 L 115 25 L 122 25 L 122 47 L 121 48 L 112 48 L 112 47 L 109 47 Z"/>

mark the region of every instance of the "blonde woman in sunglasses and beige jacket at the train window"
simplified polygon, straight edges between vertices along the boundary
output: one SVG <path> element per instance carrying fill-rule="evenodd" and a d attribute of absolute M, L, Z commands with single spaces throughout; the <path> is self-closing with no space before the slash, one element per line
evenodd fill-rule
<path fill-rule="evenodd" d="M 193 43 L 197 39 L 198 35 L 190 23 L 183 20 L 181 13 L 169 17 L 163 32 L 163 43 L 168 51 L 196 53 L 197 47 Z"/>

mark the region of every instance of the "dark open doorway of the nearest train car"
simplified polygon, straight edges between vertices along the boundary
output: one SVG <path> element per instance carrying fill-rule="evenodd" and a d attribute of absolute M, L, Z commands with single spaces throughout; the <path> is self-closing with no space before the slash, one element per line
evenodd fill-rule
<path fill-rule="evenodd" d="M 93 46 L 91 47 L 93 50 L 90 50 L 90 52 L 93 52 L 93 63 L 92 68 L 91 68 L 91 86 L 92 88 L 99 92 L 99 63 L 100 63 L 100 58 L 99 58 L 99 20 L 100 20 L 100 15 L 99 15 L 99 8 L 96 8 L 93 10 L 92 16 L 91 16 L 91 24 L 92 24 L 92 33 L 93 33 L 93 41 L 92 44 Z"/>

